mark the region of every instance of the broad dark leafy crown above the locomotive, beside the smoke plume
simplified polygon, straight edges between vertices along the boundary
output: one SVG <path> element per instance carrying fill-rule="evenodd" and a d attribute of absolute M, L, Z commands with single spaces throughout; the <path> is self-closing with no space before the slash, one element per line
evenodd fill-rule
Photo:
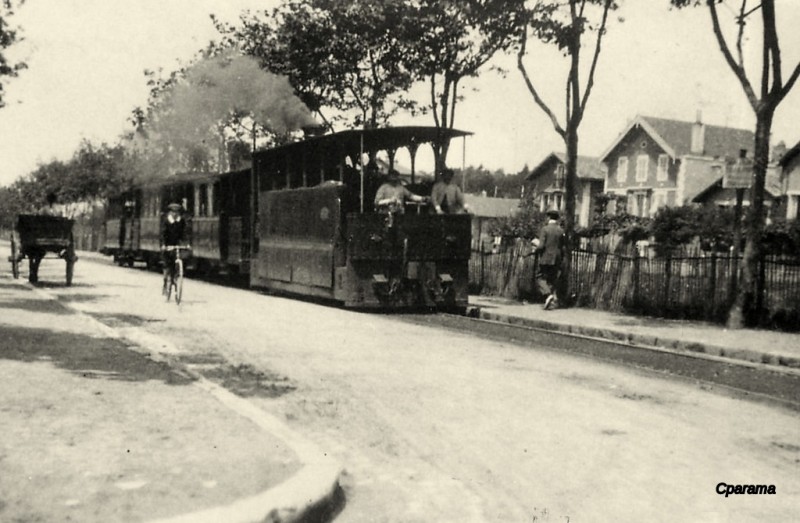
<path fill-rule="evenodd" d="M 290 0 L 271 12 L 217 23 L 226 46 L 286 75 L 329 128 L 378 127 L 416 104 L 408 33 L 415 23 L 401 0 Z"/>

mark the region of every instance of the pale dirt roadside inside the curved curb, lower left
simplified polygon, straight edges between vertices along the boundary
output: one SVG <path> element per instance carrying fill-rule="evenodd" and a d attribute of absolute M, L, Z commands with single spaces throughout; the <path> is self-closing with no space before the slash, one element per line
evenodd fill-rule
<path fill-rule="evenodd" d="M 291 449 L 28 285 L 0 277 L 0 520 L 144 521 L 291 477 Z"/>

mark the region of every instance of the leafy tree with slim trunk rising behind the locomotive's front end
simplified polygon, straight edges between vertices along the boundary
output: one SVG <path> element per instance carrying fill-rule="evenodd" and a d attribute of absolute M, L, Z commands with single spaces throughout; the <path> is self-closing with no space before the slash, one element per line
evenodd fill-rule
<path fill-rule="evenodd" d="M 478 75 L 499 51 L 517 41 L 524 0 L 417 0 L 410 35 L 418 79 L 429 87 L 428 109 L 440 131 L 453 129 L 462 80 Z M 450 142 L 440 132 L 434 144 L 437 170 Z"/>

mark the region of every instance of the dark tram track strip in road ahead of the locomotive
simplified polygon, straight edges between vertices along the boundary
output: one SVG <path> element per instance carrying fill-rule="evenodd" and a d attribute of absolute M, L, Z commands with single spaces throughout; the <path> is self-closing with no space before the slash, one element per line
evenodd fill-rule
<path fill-rule="evenodd" d="M 488 339 L 569 352 L 646 371 L 666 373 L 699 382 L 706 389 L 718 387 L 729 394 L 800 411 L 800 372 L 795 369 L 767 368 L 764 365 L 707 354 L 635 347 L 603 338 L 454 314 L 408 314 L 400 317 L 413 323 L 470 332 Z"/>

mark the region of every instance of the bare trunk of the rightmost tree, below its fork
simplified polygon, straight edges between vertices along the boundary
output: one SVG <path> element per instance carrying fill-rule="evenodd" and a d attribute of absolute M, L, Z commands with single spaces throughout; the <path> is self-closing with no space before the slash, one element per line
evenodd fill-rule
<path fill-rule="evenodd" d="M 753 187 L 750 190 L 750 209 L 747 215 L 747 231 L 742 256 L 742 279 L 736 299 L 728 313 L 728 328 L 741 329 L 753 325 L 761 314 L 761 295 L 764 282 L 759 277 L 761 260 L 761 235 L 764 230 L 764 186 L 769 162 L 769 138 L 772 129 L 773 107 L 765 107 L 756 113 L 755 164 Z"/>

